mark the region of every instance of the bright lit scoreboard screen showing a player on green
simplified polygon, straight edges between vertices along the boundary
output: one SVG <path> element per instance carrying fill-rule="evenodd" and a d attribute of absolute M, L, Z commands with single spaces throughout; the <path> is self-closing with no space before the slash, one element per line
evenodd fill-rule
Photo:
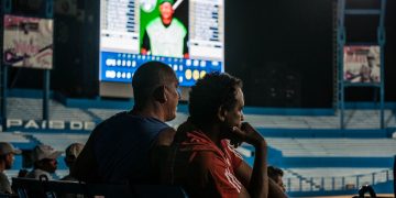
<path fill-rule="evenodd" d="M 131 82 L 148 61 L 189 87 L 224 70 L 224 0 L 101 0 L 99 79 Z"/>

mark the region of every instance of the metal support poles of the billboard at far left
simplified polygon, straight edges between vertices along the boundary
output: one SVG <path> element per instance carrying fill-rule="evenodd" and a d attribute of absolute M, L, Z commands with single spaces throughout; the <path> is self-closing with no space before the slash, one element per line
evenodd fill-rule
<path fill-rule="evenodd" d="M 1 20 L 4 20 L 4 14 L 10 14 L 12 11 L 12 0 L 3 0 L 2 4 L 1 4 Z M 54 11 L 53 11 L 53 0 L 46 0 L 45 1 L 45 18 L 47 19 L 52 19 L 54 15 Z M 0 48 L 1 48 L 1 53 L 0 53 L 0 91 L 1 91 L 1 131 L 7 131 L 7 96 L 8 96 L 8 65 L 4 64 L 3 62 L 3 34 L 4 34 L 4 29 L 3 25 L 0 25 L 1 30 L 0 30 Z M 43 120 L 48 120 L 50 118 L 50 113 L 48 113 L 48 105 L 50 105 L 50 69 L 43 69 Z"/>

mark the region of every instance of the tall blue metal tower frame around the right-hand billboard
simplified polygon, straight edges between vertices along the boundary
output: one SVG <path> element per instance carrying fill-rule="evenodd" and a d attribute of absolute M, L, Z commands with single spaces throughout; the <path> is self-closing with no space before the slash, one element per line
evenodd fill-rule
<path fill-rule="evenodd" d="M 381 2 L 380 9 L 346 9 L 346 0 L 338 0 L 338 32 L 337 32 L 337 44 L 338 44 L 338 107 L 340 108 L 340 128 L 345 129 L 345 88 L 346 87 L 374 87 L 380 89 L 380 121 L 381 129 L 385 128 L 385 58 L 384 58 L 384 46 L 385 46 L 385 7 L 386 0 L 377 0 Z M 344 46 L 346 42 L 346 31 L 345 31 L 345 15 L 377 15 L 380 16 L 380 22 L 377 26 L 377 43 L 380 46 L 380 67 L 381 67 L 381 81 L 380 84 L 345 84 L 343 78 L 344 69 Z"/>

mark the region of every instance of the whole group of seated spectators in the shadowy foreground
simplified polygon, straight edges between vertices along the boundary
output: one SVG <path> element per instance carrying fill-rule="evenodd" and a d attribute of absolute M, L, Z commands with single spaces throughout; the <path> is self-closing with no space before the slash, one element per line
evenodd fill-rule
<path fill-rule="evenodd" d="M 188 120 L 177 130 L 180 98 L 174 70 L 148 62 L 134 74 L 134 107 L 100 123 L 88 142 L 69 145 L 62 180 L 127 185 L 176 185 L 189 197 L 287 197 L 283 172 L 267 164 L 267 143 L 243 122 L 242 81 L 228 74 L 208 74 L 193 86 Z M 255 148 L 253 167 L 234 150 Z M 21 151 L 0 143 L 0 193 L 12 194 L 3 174 Z M 51 145 L 33 148 L 33 169 L 20 177 L 53 179 L 56 158 Z M 44 175 L 44 176 L 43 176 Z"/>

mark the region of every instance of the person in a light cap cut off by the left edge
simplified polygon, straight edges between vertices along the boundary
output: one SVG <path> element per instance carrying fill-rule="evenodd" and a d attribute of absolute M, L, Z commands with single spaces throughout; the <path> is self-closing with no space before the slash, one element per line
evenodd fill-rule
<path fill-rule="evenodd" d="M 21 150 L 15 150 L 8 142 L 0 142 L 0 194 L 12 194 L 10 182 L 3 172 L 11 168 L 15 154 L 21 154 Z"/>

